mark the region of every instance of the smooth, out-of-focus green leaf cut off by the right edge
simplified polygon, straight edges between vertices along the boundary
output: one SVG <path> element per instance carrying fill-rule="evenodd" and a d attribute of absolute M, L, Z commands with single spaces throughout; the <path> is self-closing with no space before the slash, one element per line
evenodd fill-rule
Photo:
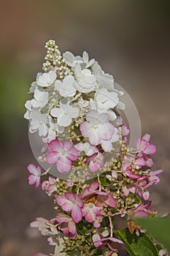
<path fill-rule="evenodd" d="M 147 233 L 150 233 L 155 240 L 162 243 L 170 252 L 170 217 L 136 220 L 147 230 Z"/>

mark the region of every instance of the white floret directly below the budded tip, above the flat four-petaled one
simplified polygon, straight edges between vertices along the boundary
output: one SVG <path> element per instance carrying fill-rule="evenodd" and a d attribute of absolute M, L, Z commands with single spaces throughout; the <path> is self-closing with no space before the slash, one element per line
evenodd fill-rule
<path fill-rule="evenodd" d="M 72 75 L 67 75 L 66 78 L 55 81 L 55 89 L 59 91 L 62 97 L 72 97 L 76 94 L 76 89 L 74 87 L 74 77 Z"/>

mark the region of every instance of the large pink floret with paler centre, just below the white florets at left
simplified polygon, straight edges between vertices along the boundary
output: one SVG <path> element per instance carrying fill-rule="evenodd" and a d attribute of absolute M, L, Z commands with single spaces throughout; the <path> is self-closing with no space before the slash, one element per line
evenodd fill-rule
<path fill-rule="evenodd" d="M 59 173 L 69 172 L 72 169 L 72 161 L 78 159 L 78 151 L 69 140 L 52 140 L 48 144 L 48 149 L 50 153 L 46 156 L 47 162 L 56 163 Z"/>

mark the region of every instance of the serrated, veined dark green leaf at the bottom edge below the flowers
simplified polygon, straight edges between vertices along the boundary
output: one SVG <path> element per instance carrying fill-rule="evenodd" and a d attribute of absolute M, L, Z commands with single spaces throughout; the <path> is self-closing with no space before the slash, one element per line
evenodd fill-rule
<path fill-rule="evenodd" d="M 128 228 L 117 230 L 120 239 L 125 243 L 126 248 L 131 256 L 158 256 L 157 249 L 150 238 L 141 233 L 140 236 L 133 235 Z"/>

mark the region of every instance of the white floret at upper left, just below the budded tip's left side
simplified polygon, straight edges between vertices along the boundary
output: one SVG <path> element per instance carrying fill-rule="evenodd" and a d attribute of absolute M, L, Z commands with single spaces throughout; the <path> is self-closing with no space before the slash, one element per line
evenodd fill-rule
<path fill-rule="evenodd" d="M 36 77 L 36 83 L 38 86 L 48 87 L 55 82 L 56 78 L 57 78 L 57 75 L 55 71 L 50 70 L 47 73 L 38 73 Z"/>

